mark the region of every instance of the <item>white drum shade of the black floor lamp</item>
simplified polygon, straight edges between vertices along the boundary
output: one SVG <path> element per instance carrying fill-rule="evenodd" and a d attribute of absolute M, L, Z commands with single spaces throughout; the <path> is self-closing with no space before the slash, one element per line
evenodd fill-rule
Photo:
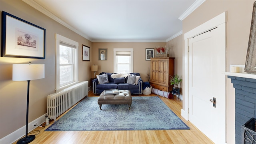
<path fill-rule="evenodd" d="M 44 64 L 12 64 L 12 80 L 37 80 L 44 78 Z"/>

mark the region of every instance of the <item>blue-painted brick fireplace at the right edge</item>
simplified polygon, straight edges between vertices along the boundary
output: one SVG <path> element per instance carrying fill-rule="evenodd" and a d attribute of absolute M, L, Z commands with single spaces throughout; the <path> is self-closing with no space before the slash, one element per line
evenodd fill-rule
<path fill-rule="evenodd" d="M 241 126 L 250 118 L 256 118 L 256 75 L 248 74 L 248 77 L 229 76 L 235 88 L 235 131 L 236 144 L 242 142 Z M 251 78 L 252 77 L 252 78 Z"/>

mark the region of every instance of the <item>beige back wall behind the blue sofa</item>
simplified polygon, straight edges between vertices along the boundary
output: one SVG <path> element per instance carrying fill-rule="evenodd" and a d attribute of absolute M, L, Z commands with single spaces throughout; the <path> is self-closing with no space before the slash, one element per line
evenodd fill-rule
<path fill-rule="evenodd" d="M 166 42 L 93 42 L 92 53 L 93 64 L 98 65 L 98 75 L 100 72 L 113 72 L 114 67 L 114 48 L 133 48 L 134 66 L 133 72 L 140 72 L 143 81 L 147 81 L 147 71 L 150 68 L 150 60 L 146 60 L 146 48 L 155 48 L 156 46 L 165 46 Z M 98 60 L 98 49 L 108 49 L 108 60 Z M 155 53 L 156 54 L 156 53 Z"/>

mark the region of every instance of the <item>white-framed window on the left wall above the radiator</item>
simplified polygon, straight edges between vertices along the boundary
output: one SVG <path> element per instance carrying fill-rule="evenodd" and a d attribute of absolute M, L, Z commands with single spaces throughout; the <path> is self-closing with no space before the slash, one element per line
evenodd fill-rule
<path fill-rule="evenodd" d="M 78 42 L 56 34 L 56 91 L 78 82 Z"/>

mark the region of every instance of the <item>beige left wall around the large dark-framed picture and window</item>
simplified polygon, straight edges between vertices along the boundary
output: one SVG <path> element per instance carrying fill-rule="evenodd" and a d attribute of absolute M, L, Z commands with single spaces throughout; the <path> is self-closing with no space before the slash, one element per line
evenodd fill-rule
<path fill-rule="evenodd" d="M 55 33 L 79 42 L 79 80 L 91 78 L 90 62 L 82 61 L 82 44 L 92 46 L 92 42 L 72 32 L 48 16 L 28 6 L 22 0 L 0 0 L 0 11 L 8 12 L 46 29 L 46 58 L 6 58 L 0 57 L 0 139 L 26 124 L 26 81 L 12 81 L 12 64 L 45 64 L 45 78 L 30 82 L 29 122 L 46 114 L 46 98 L 55 88 Z M 2 14 L 0 14 L 2 24 Z M 1 33 L 1 30 L 0 30 Z M 1 36 L 0 36 L 1 37 Z M 1 38 L 0 38 L 1 40 Z M 92 50 L 92 49 L 91 49 Z"/>

